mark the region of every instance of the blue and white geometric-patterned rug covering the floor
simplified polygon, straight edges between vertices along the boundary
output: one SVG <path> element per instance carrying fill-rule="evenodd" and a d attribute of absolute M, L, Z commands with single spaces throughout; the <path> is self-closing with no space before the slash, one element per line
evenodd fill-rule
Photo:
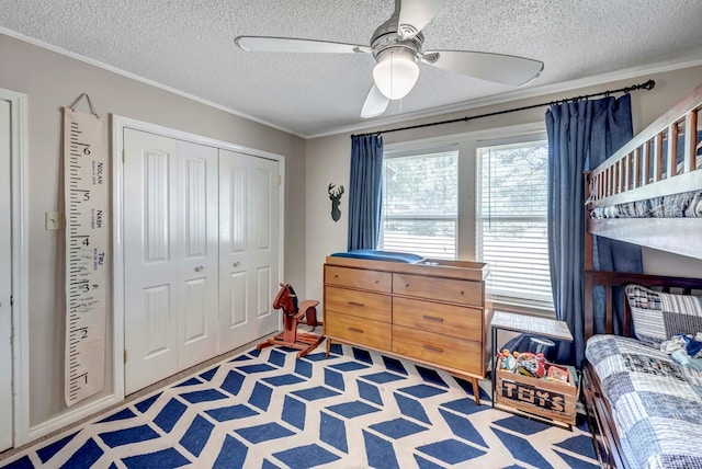
<path fill-rule="evenodd" d="M 596 468 L 588 432 L 490 408 L 452 375 L 347 345 L 213 366 L 7 468 Z M 0 464 L 1 465 L 1 464 Z"/>

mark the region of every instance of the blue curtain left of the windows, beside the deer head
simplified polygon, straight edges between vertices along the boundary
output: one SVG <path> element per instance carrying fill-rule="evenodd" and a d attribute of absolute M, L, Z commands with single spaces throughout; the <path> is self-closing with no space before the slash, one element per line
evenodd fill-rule
<path fill-rule="evenodd" d="M 381 232 L 383 138 L 351 137 L 349 251 L 375 249 Z"/>

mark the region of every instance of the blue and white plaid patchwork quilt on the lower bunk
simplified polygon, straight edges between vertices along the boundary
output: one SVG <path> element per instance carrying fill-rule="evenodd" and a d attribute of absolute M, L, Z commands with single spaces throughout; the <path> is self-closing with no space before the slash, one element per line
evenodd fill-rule
<path fill-rule="evenodd" d="M 702 469 L 702 371 L 641 341 L 595 335 L 586 357 L 634 468 Z"/>

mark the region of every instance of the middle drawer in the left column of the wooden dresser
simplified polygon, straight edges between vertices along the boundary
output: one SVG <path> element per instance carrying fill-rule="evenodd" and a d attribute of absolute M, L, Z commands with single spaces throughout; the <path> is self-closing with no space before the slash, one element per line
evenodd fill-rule
<path fill-rule="evenodd" d="M 358 316 L 361 320 L 392 322 L 393 300 L 388 295 L 325 287 L 325 309 Z"/>

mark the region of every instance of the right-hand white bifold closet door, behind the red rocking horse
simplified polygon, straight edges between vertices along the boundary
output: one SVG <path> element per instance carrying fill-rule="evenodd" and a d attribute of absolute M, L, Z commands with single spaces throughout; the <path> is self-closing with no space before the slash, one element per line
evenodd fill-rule
<path fill-rule="evenodd" d="M 219 150 L 220 352 L 280 328 L 279 236 L 279 163 Z"/>

